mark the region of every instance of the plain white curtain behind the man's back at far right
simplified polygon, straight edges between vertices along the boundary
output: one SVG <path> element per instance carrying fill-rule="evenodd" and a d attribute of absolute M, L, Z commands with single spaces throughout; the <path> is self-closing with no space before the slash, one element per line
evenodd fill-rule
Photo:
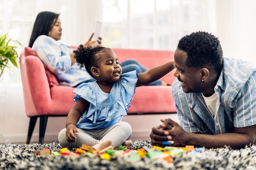
<path fill-rule="evenodd" d="M 225 56 L 256 63 L 255 6 L 255 0 L 216 0 L 217 35 Z"/>

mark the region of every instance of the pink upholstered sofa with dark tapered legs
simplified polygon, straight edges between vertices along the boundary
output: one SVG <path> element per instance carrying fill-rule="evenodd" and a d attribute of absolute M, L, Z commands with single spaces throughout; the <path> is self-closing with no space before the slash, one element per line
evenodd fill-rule
<path fill-rule="evenodd" d="M 173 51 L 112 49 L 119 62 L 136 59 L 146 68 L 174 60 Z M 36 120 L 40 117 L 39 143 L 43 143 L 49 116 L 67 116 L 74 105 L 74 88 L 59 86 L 56 77 L 44 66 L 36 53 L 25 47 L 20 53 L 20 70 L 25 101 L 25 111 L 30 117 L 27 144 L 30 142 Z M 162 80 L 172 84 L 173 71 Z M 140 86 L 135 90 L 128 114 L 176 113 L 171 86 Z"/>

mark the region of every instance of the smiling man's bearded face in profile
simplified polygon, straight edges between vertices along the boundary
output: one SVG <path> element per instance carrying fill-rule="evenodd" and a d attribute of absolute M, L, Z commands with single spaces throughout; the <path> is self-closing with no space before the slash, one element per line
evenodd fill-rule
<path fill-rule="evenodd" d="M 176 70 L 174 76 L 177 77 L 185 93 L 202 92 L 201 69 L 196 67 L 186 66 L 187 53 L 176 49 L 174 60 Z"/>

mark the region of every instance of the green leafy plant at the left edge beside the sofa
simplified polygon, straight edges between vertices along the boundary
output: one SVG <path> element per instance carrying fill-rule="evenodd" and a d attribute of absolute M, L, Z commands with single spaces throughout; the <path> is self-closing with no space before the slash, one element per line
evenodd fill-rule
<path fill-rule="evenodd" d="M 0 37 L 0 77 L 5 67 L 9 67 L 9 63 L 15 67 L 18 67 L 18 53 L 16 51 L 17 46 L 9 45 L 9 42 L 21 45 L 17 40 L 8 39 L 8 33 Z M 10 61 L 10 62 L 9 62 Z"/>

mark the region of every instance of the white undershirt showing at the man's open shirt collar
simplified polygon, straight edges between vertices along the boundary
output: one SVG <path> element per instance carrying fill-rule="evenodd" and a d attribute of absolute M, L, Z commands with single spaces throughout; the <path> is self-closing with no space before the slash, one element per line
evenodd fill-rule
<path fill-rule="evenodd" d="M 204 98 L 204 102 L 205 102 L 207 108 L 210 110 L 211 115 L 215 119 L 216 118 L 216 113 L 217 113 L 217 106 L 218 106 L 218 96 L 217 96 L 217 94 L 214 93 L 210 97 L 205 97 L 203 94 L 202 94 L 202 96 Z"/>

